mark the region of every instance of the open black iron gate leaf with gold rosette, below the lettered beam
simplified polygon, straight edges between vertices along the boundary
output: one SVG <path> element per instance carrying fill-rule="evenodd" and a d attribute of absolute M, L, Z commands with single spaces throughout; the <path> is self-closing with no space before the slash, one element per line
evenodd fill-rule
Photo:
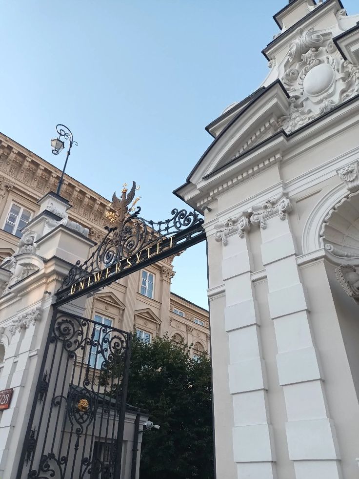
<path fill-rule="evenodd" d="M 19 479 L 120 477 L 131 333 L 103 321 L 55 310 Z"/>

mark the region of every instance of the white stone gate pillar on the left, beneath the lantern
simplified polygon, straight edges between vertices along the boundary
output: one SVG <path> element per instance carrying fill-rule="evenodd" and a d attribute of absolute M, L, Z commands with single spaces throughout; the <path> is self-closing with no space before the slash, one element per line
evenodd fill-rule
<path fill-rule="evenodd" d="M 17 474 L 53 313 L 54 293 L 60 288 L 73 257 L 85 259 L 93 246 L 91 240 L 71 230 L 74 225 L 65 228 L 56 222 L 53 229 L 46 226 L 49 208 L 65 214 L 68 204 L 63 198 L 49 193 L 39 204 L 40 214 L 28 223 L 18 250 L 3 264 L 5 270 L 0 278 L 0 325 L 9 339 L 0 372 L 0 390 L 13 389 L 9 409 L 0 413 L 1 478 L 15 478 Z M 80 298 L 63 309 L 82 314 L 82 303 Z"/>

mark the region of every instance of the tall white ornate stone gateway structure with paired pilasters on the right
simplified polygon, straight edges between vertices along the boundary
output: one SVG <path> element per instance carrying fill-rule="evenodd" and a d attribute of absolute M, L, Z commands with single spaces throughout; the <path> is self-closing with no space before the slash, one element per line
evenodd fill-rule
<path fill-rule="evenodd" d="M 205 214 L 216 473 L 354 479 L 359 15 L 294 0 L 274 19 L 268 77 L 176 190 Z"/>

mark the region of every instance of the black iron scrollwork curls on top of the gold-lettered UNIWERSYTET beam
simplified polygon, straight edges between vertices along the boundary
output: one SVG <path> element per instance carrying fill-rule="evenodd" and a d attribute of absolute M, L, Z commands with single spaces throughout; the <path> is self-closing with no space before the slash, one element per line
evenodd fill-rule
<path fill-rule="evenodd" d="M 134 187 L 136 187 L 135 182 Z M 123 201 L 126 200 L 126 191 L 126 189 L 122 190 Z M 120 205 L 120 200 L 117 201 Z M 119 226 L 105 227 L 107 234 L 98 248 L 82 264 L 80 260 L 76 262 L 63 280 L 61 289 L 68 288 L 74 283 L 109 268 L 141 250 L 156 245 L 164 238 L 171 238 L 179 232 L 185 232 L 186 229 L 195 225 L 200 226 L 203 223 L 203 219 L 196 211 L 174 208 L 171 211 L 172 216 L 170 218 L 155 222 L 141 218 L 139 216 L 140 210 L 141 208 L 137 207 L 135 212 L 128 214 L 127 204 L 124 204 L 123 208 L 119 208 L 117 217 Z"/>

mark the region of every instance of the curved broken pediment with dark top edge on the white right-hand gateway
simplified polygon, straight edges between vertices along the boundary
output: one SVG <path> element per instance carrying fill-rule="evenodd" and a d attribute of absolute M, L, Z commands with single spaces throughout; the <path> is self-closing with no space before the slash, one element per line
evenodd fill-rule
<path fill-rule="evenodd" d="M 288 108 L 288 93 L 277 80 L 223 129 L 203 154 L 188 181 L 197 184 L 218 168 L 275 135 L 279 131 L 278 119 Z"/>

